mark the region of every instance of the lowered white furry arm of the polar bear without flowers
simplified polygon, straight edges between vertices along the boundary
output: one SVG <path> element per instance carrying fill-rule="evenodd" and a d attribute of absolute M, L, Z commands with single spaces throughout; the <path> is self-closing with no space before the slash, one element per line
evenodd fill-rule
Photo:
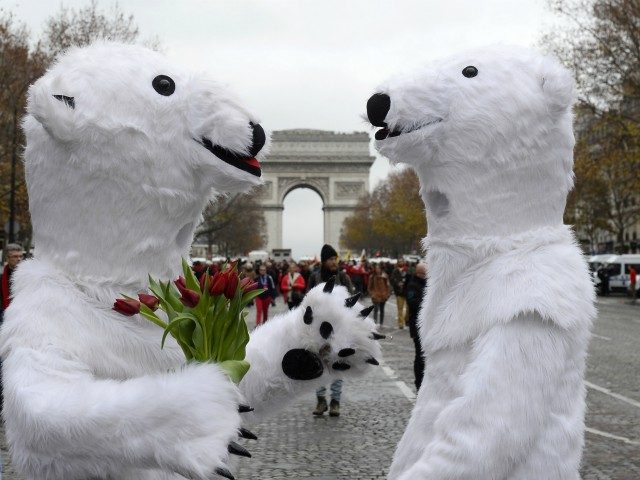
<path fill-rule="evenodd" d="M 566 332 L 534 313 L 493 327 L 476 340 L 460 396 L 438 415 L 421 457 L 390 478 L 508 478 L 545 425 L 568 343 Z"/>

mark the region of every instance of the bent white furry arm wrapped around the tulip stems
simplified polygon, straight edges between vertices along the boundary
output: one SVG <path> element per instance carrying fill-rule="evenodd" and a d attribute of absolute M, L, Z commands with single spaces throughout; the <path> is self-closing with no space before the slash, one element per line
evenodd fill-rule
<path fill-rule="evenodd" d="M 207 479 L 240 426 L 237 389 L 213 365 L 116 381 L 53 348 L 3 358 L 4 418 L 29 478 L 121 478 L 129 468 Z"/>

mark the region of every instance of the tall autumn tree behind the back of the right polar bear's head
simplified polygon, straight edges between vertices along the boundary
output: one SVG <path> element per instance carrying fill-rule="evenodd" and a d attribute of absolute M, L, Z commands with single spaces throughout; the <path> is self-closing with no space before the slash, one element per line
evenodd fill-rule
<path fill-rule="evenodd" d="M 543 44 L 578 86 L 576 188 L 565 221 L 588 249 L 610 232 L 627 251 L 640 230 L 640 2 L 551 0 L 564 22 Z"/>

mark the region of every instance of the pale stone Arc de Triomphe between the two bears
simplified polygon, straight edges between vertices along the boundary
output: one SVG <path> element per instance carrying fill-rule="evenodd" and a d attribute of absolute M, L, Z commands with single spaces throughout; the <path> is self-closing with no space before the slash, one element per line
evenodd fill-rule
<path fill-rule="evenodd" d="M 358 198 L 369 190 L 369 134 L 325 130 L 273 132 L 271 153 L 261 162 L 264 186 L 260 202 L 267 221 L 267 251 L 282 244 L 283 202 L 296 188 L 320 195 L 324 211 L 324 242 L 343 250 L 340 229 Z M 303 226 L 304 227 L 304 226 Z"/>

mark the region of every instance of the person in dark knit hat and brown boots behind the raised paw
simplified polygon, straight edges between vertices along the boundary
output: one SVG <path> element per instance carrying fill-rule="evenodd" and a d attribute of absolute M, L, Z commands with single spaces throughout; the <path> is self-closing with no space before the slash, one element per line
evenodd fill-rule
<path fill-rule="evenodd" d="M 324 245 L 320 251 L 320 268 L 316 269 L 309 277 L 308 290 L 316 285 L 328 281 L 331 277 L 335 277 L 335 284 L 342 285 L 347 288 L 350 294 L 353 294 L 353 284 L 349 276 L 344 271 L 338 270 L 338 252 L 331 245 Z M 316 416 L 324 415 L 329 410 L 332 417 L 340 416 L 340 397 L 342 396 L 342 380 L 334 380 L 331 383 L 331 403 L 327 405 L 327 389 L 320 387 L 316 390 L 316 398 L 318 403 L 313 414 Z"/>

